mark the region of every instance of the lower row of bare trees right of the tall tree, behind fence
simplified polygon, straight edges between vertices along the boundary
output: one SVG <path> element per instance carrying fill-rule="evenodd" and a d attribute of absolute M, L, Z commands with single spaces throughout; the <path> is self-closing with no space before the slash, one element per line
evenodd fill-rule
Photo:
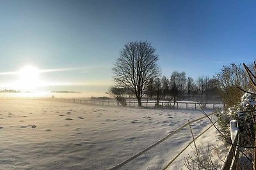
<path fill-rule="evenodd" d="M 185 97 L 196 97 L 199 101 L 207 101 L 216 96 L 216 80 L 208 76 L 200 76 L 196 81 L 186 78 L 186 73 L 174 71 L 170 78 L 166 76 L 152 78 L 148 82 L 147 97 L 160 100 L 177 101 Z"/>

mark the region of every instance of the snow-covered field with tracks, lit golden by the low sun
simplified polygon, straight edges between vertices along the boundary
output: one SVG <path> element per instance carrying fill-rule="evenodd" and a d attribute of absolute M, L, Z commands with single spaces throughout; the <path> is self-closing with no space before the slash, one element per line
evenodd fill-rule
<path fill-rule="evenodd" d="M 0 169 L 110 169 L 203 116 L 193 110 L 0 99 Z M 191 127 L 196 136 L 209 125 L 204 118 Z M 163 169 L 191 140 L 187 126 L 120 169 Z M 169 169 L 182 168 L 183 158 Z"/>

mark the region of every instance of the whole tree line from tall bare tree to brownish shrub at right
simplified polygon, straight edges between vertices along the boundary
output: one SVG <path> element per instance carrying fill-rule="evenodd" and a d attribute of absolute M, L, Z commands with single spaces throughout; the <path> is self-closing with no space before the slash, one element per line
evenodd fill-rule
<path fill-rule="evenodd" d="M 161 76 L 157 64 L 158 55 L 147 41 L 129 42 L 120 51 L 120 57 L 113 67 L 115 87 L 109 94 L 125 103 L 125 97 L 136 97 L 141 106 L 141 98 L 176 101 L 184 97 L 196 96 L 196 101 L 205 102 L 210 97 L 220 99 L 232 106 L 240 100 L 250 86 L 246 71 L 241 64 L 224 66 L 212 78 L 200 76 L 197 80 L 186 77 L 186 73 L 174 71 L 169 78 Z M 121 97 L 121 98 L 120 98 Z"/>

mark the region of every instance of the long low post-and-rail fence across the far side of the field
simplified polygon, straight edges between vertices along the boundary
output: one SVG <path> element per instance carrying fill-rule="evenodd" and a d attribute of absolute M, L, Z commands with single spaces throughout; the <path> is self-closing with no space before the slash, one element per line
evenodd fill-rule
<path fill-rule="evenodd" d="M 93 104 L 100 106 L 122 106 L 118 101 L 104 101 L 104 100 L 93 100 L 93 99 L 61 99 L 53 98 L 56 101 L 65 101 L 68 103 L 79 103 L 79 104 Z M 204 109 L 215 110 L 223 108 L 223 103 L 195 103 L 195 102 L 166 102 L 162 101 L 156 103 L 154 101 L 141 101 L 141 106 L 144 108 L 171 108 L 171 109 L 182 109 L 182 110 L 196 110 L 200 109 L 200 105 L 204 106 Z M 127 101 L 127 106 L 137 108 L 138 101 Z"/>

